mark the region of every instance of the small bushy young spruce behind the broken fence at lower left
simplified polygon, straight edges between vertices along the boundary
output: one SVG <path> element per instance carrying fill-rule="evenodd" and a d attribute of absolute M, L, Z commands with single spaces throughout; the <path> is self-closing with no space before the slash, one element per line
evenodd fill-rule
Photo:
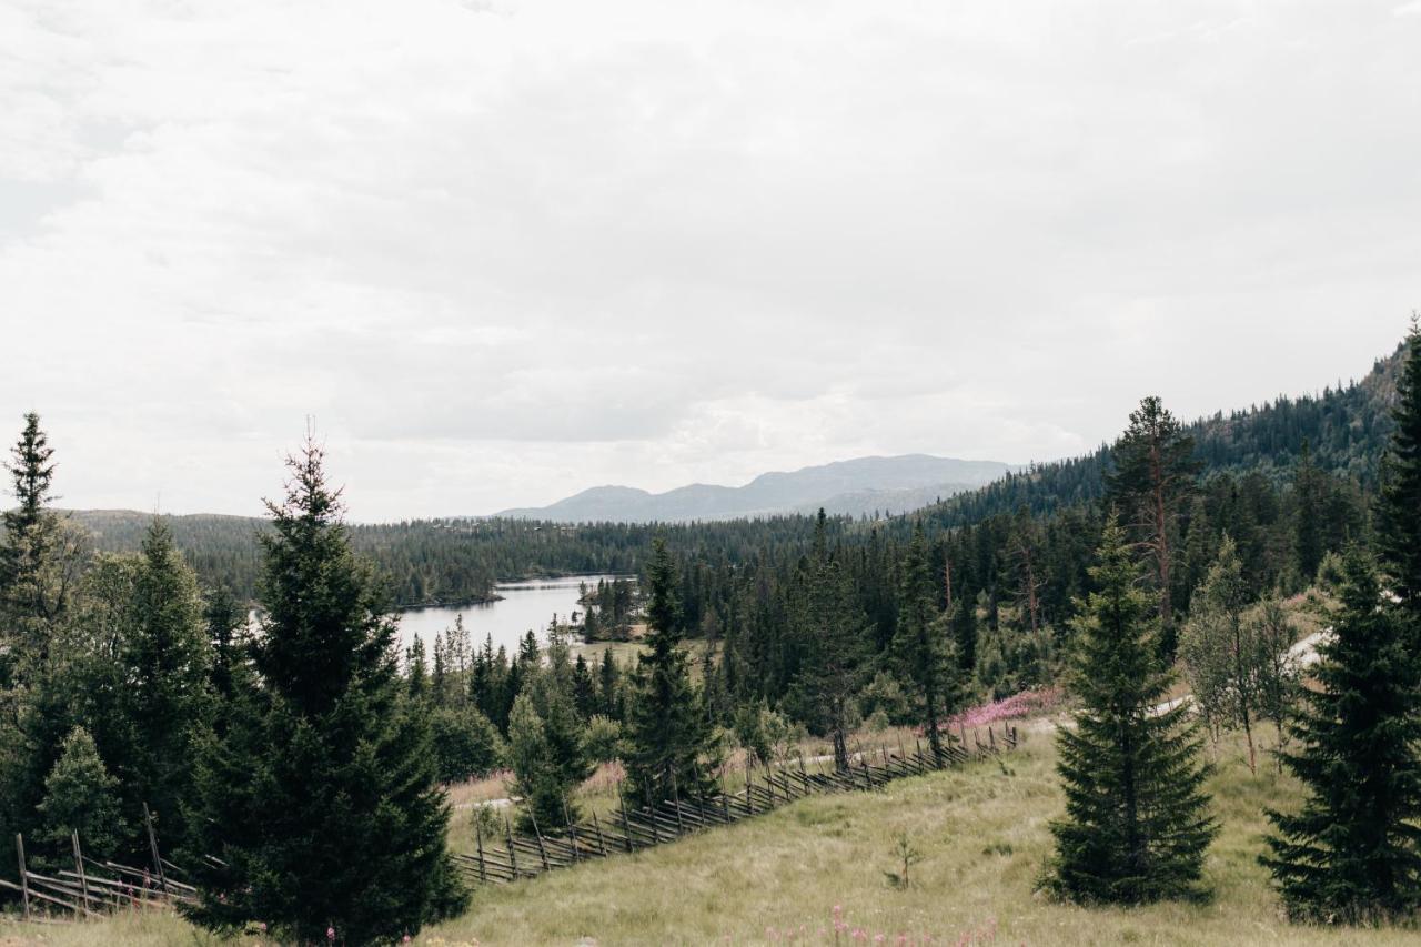
<path fill-rule="evenodd" d="M 118 781 L 98 755 L 94 738 L 75 727 L 60 748 L 60 758 L 44 779 L 44 799 L 37 806 L 34 840 L 37 865 L 72 865 L 72 833 L 80 833 L 84 853 L 117 857 L 125 840 L 125 819 L 118 801 Z"/>

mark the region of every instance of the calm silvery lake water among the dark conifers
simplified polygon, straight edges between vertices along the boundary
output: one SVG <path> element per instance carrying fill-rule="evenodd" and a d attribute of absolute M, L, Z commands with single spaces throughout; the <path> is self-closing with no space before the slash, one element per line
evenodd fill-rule
<path fill-rule="evenodd" d="M 577 604 L 578 583 L 597 586 L 598 579 L 624 579 L 625 576 L 568 576 L 567 579 L 539 579 L 533 582 L 509 582 L 495 586 L 503 599 L 486 604 L 472 604 L 459 609 L 411 609 L 399 616 L 401 650 L 418 636 L 425 650 L 433 648 L 435 636 L 453 627 L 456 616 L 463 616 L 463 627 L 475 647 L 483 644 L 485 636 L 493 636 L 493 650 L 499 646 L 517 650 L 519 638 L 533 628 L 540 641 L 546 641 L 547 623 L 557 616 L 567 621 L 573 611 L 578 616 L 583 606 Z"/>

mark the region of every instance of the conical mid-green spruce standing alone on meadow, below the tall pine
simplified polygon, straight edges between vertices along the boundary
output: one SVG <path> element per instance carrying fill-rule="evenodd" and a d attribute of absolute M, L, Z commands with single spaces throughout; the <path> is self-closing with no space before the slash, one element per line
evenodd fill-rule
<path fill-rule="evenodd" d="M 1124 530 L 1111 519 L 1071 621 L 1074 727 L 1057 731 L 1066 815 L 1052 822 L 1047 884 L 1076 901 L 1138 904 L 1199 893 L 1216 833 L 1199 734 L 1185 705 L 1157 711 L 1172 681 Z"/>

